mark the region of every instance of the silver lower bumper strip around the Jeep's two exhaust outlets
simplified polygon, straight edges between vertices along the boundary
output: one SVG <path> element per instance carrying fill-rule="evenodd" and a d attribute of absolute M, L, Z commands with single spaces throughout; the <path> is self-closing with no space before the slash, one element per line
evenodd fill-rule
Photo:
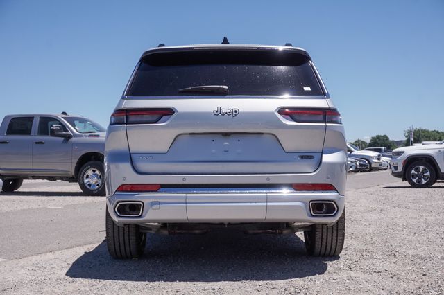
<path fill-rule="evenodd" d="M 120 217 L 115 208 L 122 201 L 143 203 L 139 217 Z M 311 215 L 311 201 L 332 201 L 332 216 Z M 144 223 L 244 223 L 336 222 L 344 209 L 344 197 L 336 192 L 300 193 L 115 193 L 107 198 L 107 208 L 117 224 Z"/>

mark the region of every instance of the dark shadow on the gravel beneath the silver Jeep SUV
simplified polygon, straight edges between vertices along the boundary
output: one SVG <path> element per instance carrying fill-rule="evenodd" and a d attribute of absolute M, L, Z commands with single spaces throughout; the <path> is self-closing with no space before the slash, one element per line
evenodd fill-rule
<path fill-rule="evenodd" d="M 307 256 L 297 235 L 244 235 L 232 229 L 207 235 L 148 234 L 143 258 L 114 260 L 102 242 L 80 256 L 66 275 L 148 282 L 286 280 L 323 274 L 326 262 L 338 258 Z"/>

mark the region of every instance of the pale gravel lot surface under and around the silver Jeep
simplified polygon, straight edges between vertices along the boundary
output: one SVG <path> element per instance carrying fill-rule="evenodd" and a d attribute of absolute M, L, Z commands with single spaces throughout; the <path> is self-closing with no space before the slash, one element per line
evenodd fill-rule
<path fill-rule="evenodd" d="M 359 188 L 356 183 L 366 177 L 371 186 Z M 376 181 L 378 177 L 385 181 Z M 97 236 L 88 238 L 92 239 L 89 244 L 71 247 L 69 232 L 64 231 L 59 235 L 66 245 L 57 251 L 35 250 L 37 254 L 0 261 L 0 293 L 442 294 L 444 182 L 413 189 L 395 178 L 387 181 L 390 177 L 389 172 L 349 177 L 355 182 L 347 193 L 346 244 L 339 258 L 306 256 L 301 234 L 214 231 L 199 236 L 150 235 L 144 258 L 119 261 L 108 256 L 105 243 L 97 242 Z M 77 208 L 69 206 L 96 206 L 100 202 L 104 206 L 103 199 L 76 196 L 74 184 L 57 188 L 28 184 L 23 190 L 16 195 L 0 195 L 0 204 L 8 208 L 2 210 L 19 215 L 56 205 Z M 48 190 L 56 193 L 38 193 Z M 8 207 L 10 201 L 15 204 Z M 26 204 L 26 209 L 18 210 L 17 204 Z M 103 211 L 92 214 L 103 220 Z M 19 236 L 19 232 L 8 231 L 8 220 L 1 222 L 0 240 L 17 240 L 12 235 Z M 103 222 L 91 222 L 96 223 L 104 229 Z M 80 230 L 96 228 L 92 225 Z M 27 233 L 19 241 L 32 246 L 36 235 Z M 38 235 L 44 238 L 44 234 Z M 100 240 L 103 236 L 101 232 Z M 14 257 L 12 252 L 0 250 L 0 258 Z"/>

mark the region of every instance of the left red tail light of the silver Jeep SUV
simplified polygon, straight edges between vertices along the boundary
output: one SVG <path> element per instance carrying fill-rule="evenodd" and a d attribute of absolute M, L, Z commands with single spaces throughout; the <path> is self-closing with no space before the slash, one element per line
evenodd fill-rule
<path fill-rule="evenodd" d="M 119 109 L 112 113 L 110 124 L 153 124 L 173 114 L 173 109 Z"/>

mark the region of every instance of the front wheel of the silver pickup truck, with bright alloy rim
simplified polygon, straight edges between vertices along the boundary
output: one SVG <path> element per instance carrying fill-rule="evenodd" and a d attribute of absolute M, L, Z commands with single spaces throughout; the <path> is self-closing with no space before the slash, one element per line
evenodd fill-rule
<path fill-rule="evenodd" d="M 90 161 L 80 168 L 78 172 L 78 185 L 83 193 L 91 196 L 105 195 L 105 181 L 103 179 L 103 163 Z"/>

